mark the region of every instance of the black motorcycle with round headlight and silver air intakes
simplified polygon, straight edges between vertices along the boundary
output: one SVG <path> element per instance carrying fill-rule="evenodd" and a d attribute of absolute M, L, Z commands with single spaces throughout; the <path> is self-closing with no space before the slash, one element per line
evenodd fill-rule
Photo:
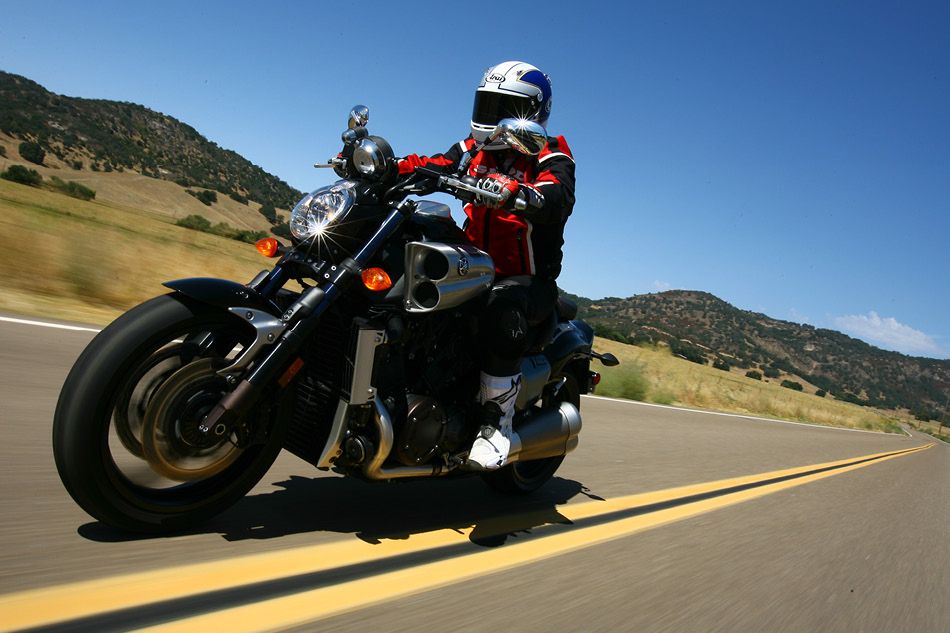
<path fill-rule="evenodd" d="M 357 106 L 342 180 L 305 196 L 291 245 L 247 284 L 196 278 L 129 310 L 69 373 L 56 407 L 59 476 L 87 513 L 115 528 L 180 530 L 237 502 L 286 449 L 320 470 L 367 481 L 470 475 L 477 433 L 477 318 L 494 279 L 489 255 L 449 207 L 497 196 L 462 175 L 399 175 L 395 154 Z M 536 123 L 506 119 L 489 141 L 537 155 Z M 480 147 L 480 146 L 479 146 Z M 498 199 L 498 198 L 495 198 Z M 521 208 L 524 199 L 516 202 Z M 508 464 L 481 473 L 530 493 L 574 450 L 580 395 L 599 374 L 591 328 L 559 299 L 522 363 Z"/>

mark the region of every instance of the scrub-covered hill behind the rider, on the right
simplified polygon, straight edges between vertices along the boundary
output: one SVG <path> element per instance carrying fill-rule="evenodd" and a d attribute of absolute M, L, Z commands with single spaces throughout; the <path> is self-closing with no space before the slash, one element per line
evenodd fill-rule
<path fill-rule="evenodd" d="M 804 380 L 839 400 L 946 415 L 950 361 L 905 356 L 841 332 L 740 310 L 706 292 L 671 290 L 621 299 L 575 297 L 598 335 L 660 343 L 674 354 L 723 369 Z M 799 383 L 800 384 L 800 383 Z"/>

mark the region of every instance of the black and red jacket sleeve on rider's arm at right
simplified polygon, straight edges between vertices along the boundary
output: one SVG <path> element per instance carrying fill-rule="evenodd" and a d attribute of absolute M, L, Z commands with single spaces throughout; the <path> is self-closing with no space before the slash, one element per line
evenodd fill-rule
<path fill-rule="evenodd" d="M 563 136 L 548 140 L 538 156 L 538 173 L 522 187 L 544 198 L 540 208 L 529 206 L 519 215 L 538 224 L 561 224 L 574 210 L 574 157 Z M 530 195 L 530 193 L 529 193 Z"/>

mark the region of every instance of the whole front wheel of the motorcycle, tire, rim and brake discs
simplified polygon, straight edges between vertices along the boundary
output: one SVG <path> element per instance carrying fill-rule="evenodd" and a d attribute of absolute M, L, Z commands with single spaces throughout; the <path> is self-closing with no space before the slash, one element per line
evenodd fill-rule
<path fill-rule="evenodd" d="M 180 295 L 133 308 L 89 344 L 63 385 L 53 454 L 90 515 L 132 531 L 180 530 L 244 496 L 280 452 L 290 389 L 232 432 L 198 424 L 230 387 L 217 375 L 254 339 L 230 313 Z"/>

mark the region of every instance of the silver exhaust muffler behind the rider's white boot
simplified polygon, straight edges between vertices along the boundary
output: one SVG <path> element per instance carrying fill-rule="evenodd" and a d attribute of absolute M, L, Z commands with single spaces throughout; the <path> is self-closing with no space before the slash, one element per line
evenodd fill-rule
<path fill-rule="evenodd" d="M 508 462 L 567 455 L 577 448 L 580 432 L 580 411 L 570 402 L 562 402 L 554 411 L 532 415 L 512 433 Z"/>

